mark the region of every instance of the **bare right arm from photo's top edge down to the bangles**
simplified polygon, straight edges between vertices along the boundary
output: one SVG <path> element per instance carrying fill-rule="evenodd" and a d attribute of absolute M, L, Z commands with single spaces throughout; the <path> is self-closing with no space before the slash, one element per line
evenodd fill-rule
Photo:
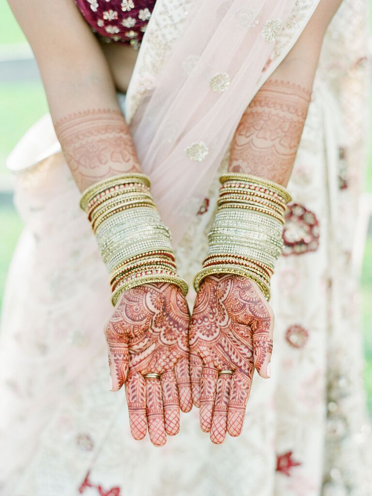
<path fill-rule="evenodd" d="M 320 1 L 293 49 L 251 101 L 234 135 L 230 172 L 287 185 L 308 112 L 323 36 L 340 3 Z"/>

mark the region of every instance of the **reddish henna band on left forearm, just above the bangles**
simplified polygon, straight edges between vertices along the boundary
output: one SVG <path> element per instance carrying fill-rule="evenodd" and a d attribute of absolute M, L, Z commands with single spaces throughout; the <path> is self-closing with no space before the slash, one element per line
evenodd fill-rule
<path fill-rule="evenodd" d="M 112 175 L 140 170 L 128 126 L 118 110 L 68 115 L 55 129 L 80 190 Z"/>

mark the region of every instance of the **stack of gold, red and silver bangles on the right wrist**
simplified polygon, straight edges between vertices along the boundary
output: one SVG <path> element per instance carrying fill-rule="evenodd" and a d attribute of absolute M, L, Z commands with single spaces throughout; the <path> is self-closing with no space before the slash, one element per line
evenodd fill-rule
<path fill-rule="evenodd" d="M 224 174 L 209 231 L 209 252 L 194 279 L 195 291 L 211 274 L 248 277 L 270 299 L 270 278 L 283 252 L 282 231 L 291 196 L 283 187 L 248 174 Z"/>

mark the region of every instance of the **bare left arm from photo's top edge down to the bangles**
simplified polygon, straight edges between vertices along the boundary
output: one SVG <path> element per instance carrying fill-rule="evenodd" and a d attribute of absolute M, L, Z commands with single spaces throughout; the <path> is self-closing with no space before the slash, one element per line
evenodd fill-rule
<path fill-rule="evenodd" d="M 49 0 L 9 4 L 37 59 L 57 136 L 79 189 L 139 171 L 108 63 L 74 3 L 59 0 L 53 8 Z"/>

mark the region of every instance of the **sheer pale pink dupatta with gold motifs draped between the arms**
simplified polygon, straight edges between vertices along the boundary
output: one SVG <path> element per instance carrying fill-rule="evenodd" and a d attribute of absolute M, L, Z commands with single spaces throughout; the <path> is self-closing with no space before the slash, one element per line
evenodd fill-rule
<path fill-rule="evenodd" d="M 204 199 L 296 3 L 156 3 L 126 110 L 175 245 Z M 177 39 L 171 48 L 172 37 Z"/>

